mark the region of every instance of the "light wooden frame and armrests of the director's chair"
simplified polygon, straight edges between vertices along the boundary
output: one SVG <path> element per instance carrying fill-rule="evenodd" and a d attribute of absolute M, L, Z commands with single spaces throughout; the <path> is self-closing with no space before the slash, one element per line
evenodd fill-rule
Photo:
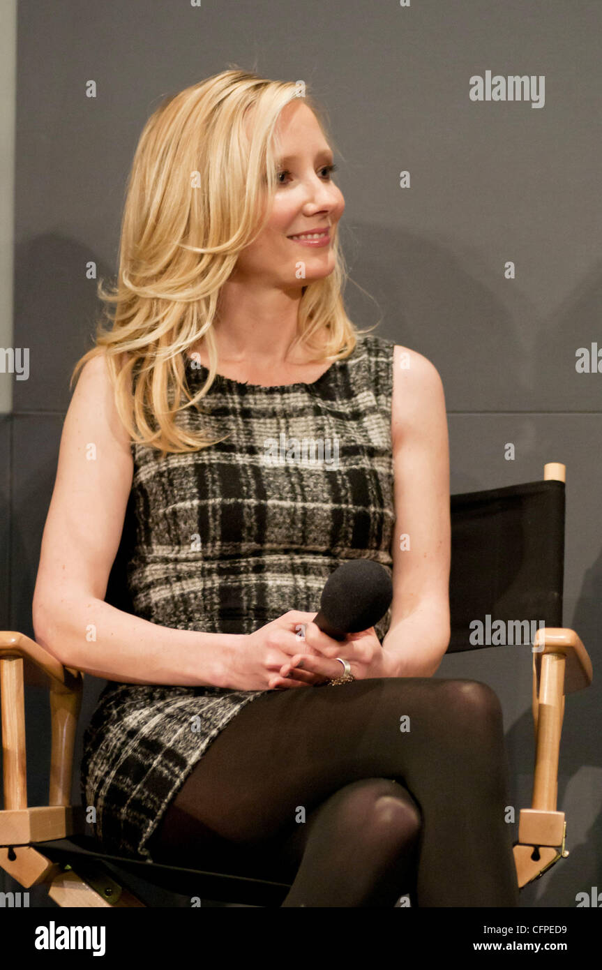
<path fill-rule="evenodd" d="M 545 479 L 564 481 L 564 475 L 564 465 L 545 466 Z M 41 674 L 50 692 L 48 805 L 37 808 L 27 804 L 24 663 L 28 681 L 39 684 Z M 586 688 L 592 680 L 591 661 L 575 630 L 538 630 L 532 668 L 535 766 L 531 807 L 521 810 L 519 839 L 514 846 L 520 888 L 538 879 L 559 858 L 568 856 L 564 812 L 556 809 L 564 696 Z M 0 631 L 4 758 L 0 866 L 26 889 L 46 884 L 50 898 L 59 906 L 141 907 L 144 904 L 133 892 L 114 884 L 106 873 L 98 878 L 79 876 L 36 848 L 36 843 L 66 838 L 75 831 L 70 799 L 82 685 L 79 670 L 63 666 L 30 637 L 14 630 Z"/>

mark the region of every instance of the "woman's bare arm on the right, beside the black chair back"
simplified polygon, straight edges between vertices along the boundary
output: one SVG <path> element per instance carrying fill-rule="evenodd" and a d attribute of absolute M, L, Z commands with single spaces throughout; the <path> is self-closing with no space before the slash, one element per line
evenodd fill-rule
<path fill-rule="evenodd" d="M 401 367 L 402 354 L 409 367 Z M 383 649 L 396 676 L 429 677 L 450 642 L 450 474 L 439 373 L 422 354 L 396 346 L 392 404 L 396 523 L 394 598 Z M 409 548 L 400 548 L 401 536 Z"/>

